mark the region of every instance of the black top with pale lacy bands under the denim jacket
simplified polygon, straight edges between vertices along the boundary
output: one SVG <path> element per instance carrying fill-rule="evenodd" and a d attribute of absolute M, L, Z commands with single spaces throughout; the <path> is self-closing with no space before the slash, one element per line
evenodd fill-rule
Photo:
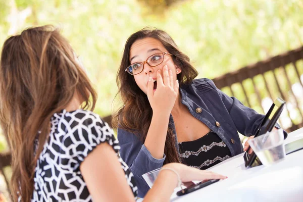
<path fill-rule="evenodd" d="M 182 163 L 197 169 L 208 169 L 231 157 L 225 142 L 214 132 L 188 142 L 179 142 Z"/>

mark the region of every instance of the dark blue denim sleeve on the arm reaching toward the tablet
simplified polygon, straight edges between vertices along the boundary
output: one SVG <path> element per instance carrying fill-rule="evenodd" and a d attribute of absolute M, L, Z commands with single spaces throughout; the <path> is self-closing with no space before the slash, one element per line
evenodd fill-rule
<path fill-rule="evenodd" d="M 255 135 L 260 127 L 265 115 L 259 114 L 255 110 L 244 106 L 237 98 L 230 97 L 215 86 L 215 83 L 207 79 L 208 83 L 217 90 L 219 96 L 222 99 L 226 109 L 229 112 L 231 119 L 233 120 L 237 130 L 245 136 Z M 269 120 L 267 120 L 267 123 Z M 261 127 L 260 134 L 266 133 L 266 124 Z M 281 128 L 278 123 L 276 128 Z M 287 137 L 287 132 L 284 131 L 284 138 Z"/>

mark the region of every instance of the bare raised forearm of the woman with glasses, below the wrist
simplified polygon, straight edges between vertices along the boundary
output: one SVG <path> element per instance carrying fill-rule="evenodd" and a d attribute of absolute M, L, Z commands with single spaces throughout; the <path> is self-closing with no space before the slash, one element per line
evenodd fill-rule
<path fill-rule="evenodd" d="M 162 159 L 170 114 L 154 113 L 144 142 L 151 156 Z"/>

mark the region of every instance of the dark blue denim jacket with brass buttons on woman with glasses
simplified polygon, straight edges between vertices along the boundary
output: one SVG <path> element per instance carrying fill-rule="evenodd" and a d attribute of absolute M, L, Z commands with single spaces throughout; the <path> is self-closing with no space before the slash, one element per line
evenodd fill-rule
<path fill-rule="evenodd" d="M 235 97 L 223 93 L 207 78 L 195 79 L 189 85 L 182 85 L 180 93 L 182 104 L 192 116 L 219 135 L 228 146 L 232 157 L 243 153 L 238 132 L 245 136 L 256 134 L 264 118 L 264 115 L 245 107 Z M 170 124 L 175 132 L 172 116 Z M 262 127 L 261 134 L 264 131 L 265 127 Z M 175 145 L 179 150 L 177 135 L 175 138 Z M 144 197 L 149 187 L 142 175 L 161 168 L 165 155 L 162 159 L 155 159 L 135 134 L 119 128 L 118 140 L 121 146 L 120 155 L 136 179 L 138 196 Z"/>

